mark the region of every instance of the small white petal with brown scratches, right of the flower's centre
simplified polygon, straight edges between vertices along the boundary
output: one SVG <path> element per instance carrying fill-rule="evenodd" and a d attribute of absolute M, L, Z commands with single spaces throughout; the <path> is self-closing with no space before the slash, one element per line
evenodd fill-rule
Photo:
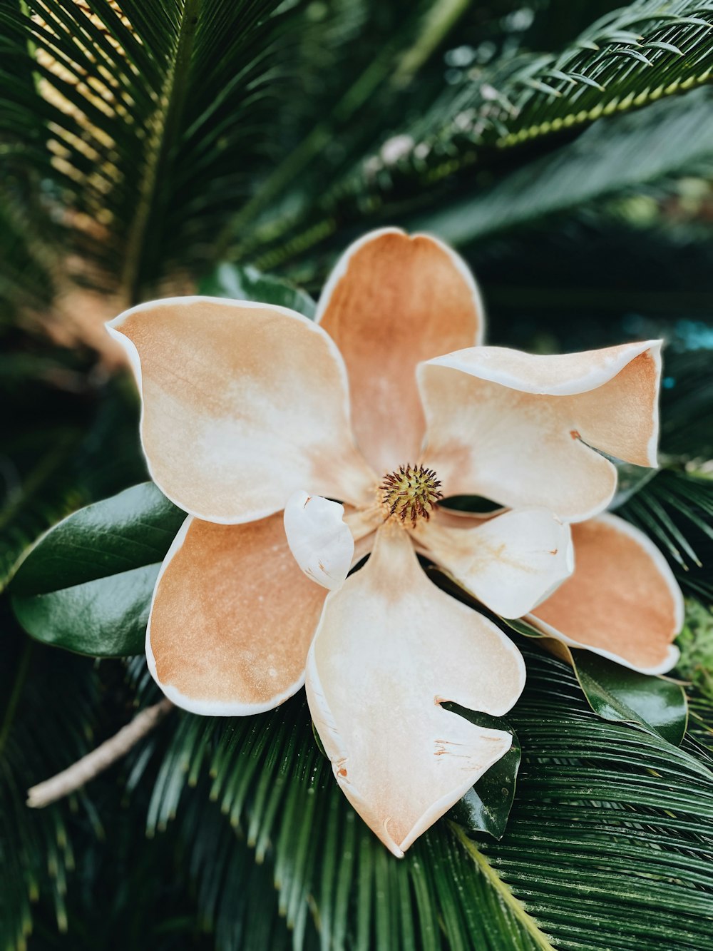
<path fill-rule="evenodd" d="M 531 611 L 574 567 L 569 526 L 545 509 L 506 512 L 472 528 L 432 518 L 417 526 L 415 538 L 459 585 L 502 617 Z"/>

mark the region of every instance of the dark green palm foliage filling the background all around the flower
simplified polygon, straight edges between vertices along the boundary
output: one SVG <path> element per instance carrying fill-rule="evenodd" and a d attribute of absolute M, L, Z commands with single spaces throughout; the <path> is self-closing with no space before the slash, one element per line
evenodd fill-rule
<path fill-rule="evenodd" d="M 458 246 L 493 343 L 667 340 L 665 466 L 619 514 L 689 598 L 684 746 L 599 721 L 526 645 L 500 842 L 444 821 L 392 861 L 299 698 L 176 712 L 31 812 L 28 786 L 156 695 L 143 658 L 30 642 L 0 602 L 2 951 L 709 946 L 713 3 L 0 0 L 0 582 L 145 479 L 104 320 L 219 267 L 317 294 L 383 223 Z"/>

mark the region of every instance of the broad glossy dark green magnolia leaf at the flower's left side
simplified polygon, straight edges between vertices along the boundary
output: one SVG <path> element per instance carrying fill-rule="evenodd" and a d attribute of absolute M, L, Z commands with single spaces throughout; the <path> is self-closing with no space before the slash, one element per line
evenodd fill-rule
<path fill-rule="evenodd" d="M 142 653 L 159 568 L 184 518 L 152 482 L 69 515 L 12 580 L 20 624 L 46 644 L 92 657 Z"/>

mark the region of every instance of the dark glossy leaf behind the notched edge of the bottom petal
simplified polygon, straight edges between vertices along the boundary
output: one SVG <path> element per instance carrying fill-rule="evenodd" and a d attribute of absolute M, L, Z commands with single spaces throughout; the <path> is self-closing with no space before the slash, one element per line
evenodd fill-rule
<path fill-rule="evenodd" d="M 503 729 L 512 736 L 512 746 L 505 756 L 491 766 L 449 813 L 453 822 L 462 825 L 469 832 L 488 832 L 493 839 L 501 839 L 508 825 L 512 802 L 515 798 L 517 770 L 520 768 L 522 758 L 517 734 L 503 718 L 476 713 L 457 707 L 455 704 L 443 706 L 466 717 L 478 727 Z"/>

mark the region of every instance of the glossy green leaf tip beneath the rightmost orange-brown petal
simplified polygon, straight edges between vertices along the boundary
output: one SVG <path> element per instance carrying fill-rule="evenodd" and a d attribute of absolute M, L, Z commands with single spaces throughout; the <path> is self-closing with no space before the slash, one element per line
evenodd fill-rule
<path fill-rule="evenodd" d="M 591 708 L 605 720 L 638 723 L 679 746 L 688 708 L 684 689 L 614 664 L 589 650 L 572 650 L 574 670 Z"/>

